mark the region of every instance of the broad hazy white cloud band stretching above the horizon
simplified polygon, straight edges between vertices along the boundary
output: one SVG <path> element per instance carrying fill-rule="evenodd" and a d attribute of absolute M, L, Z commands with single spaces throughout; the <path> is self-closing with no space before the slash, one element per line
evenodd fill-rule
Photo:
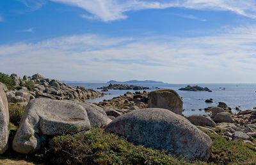
<path fill-rule="evenodd" d="M 0 45 L 0 70 L 60 80 L 151 79 L 171 83 L 256 81 L 256 26 L 194 38 L 63 36 Z"/>

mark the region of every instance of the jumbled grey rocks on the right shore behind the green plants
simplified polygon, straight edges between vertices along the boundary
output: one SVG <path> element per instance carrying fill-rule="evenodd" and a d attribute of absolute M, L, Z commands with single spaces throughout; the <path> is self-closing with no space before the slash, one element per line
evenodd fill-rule
<path fill-rule="evenodd" d="M 221 134 L 228 140 L 244 140 L 252 142 L 256 138 L 256 110 L 246 110 L 232 114 L 227 104 L 220 102 L 217 107 L 211 107 L 211 115 L 192 115 L 188 120 L 215 134 Z"/>

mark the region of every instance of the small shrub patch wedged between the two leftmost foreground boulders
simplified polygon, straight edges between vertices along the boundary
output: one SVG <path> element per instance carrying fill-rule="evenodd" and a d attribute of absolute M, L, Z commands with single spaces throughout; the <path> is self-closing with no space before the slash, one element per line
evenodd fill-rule
<path fill-rule="evenodd" d="M 24 110 L 24 106 L 20 106 L 19 104 L 9 104 L 10 122 L 12 122 L 15 126 L 19 126 L 19 122 L 24 114 Z"/>

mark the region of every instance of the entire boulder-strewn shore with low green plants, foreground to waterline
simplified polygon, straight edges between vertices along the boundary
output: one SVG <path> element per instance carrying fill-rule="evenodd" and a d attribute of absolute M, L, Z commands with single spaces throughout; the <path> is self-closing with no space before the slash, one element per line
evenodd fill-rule
<path fill-rule="evenodd" d="M 146 164 L 145 158 L 151 164 L 255 162 L 256 110 L 234 114 L 220 102 L 209 108 L 209 115 L 184 117 L 175 90 L 127 92 L 92 104 L 86 99 L 100 97 L 100 92 L 47 81 L 39 74 L 10 78 L 19 83 L 11 90 L 10 84 L 0 84 L 0 164 L 1 157 L 19 154 L 25 160 L 33 157 L 35 164 Z M 24 79 L 34 85 L 26 87 Z M 26 106 L 17 129 L 11 127 L 13 104 Z"/>

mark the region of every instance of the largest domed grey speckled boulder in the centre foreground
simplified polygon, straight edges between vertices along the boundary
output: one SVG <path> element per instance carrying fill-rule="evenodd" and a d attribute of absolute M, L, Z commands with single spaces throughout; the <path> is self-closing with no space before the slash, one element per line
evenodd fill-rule
<path fill-rule="evenodd" d="M 115 118 L 105 129 L 136 145 L 164 149 L 185 159 L 206 161 L 212 141 L 189 120 L 170 110 L 147 108 Z"/>

